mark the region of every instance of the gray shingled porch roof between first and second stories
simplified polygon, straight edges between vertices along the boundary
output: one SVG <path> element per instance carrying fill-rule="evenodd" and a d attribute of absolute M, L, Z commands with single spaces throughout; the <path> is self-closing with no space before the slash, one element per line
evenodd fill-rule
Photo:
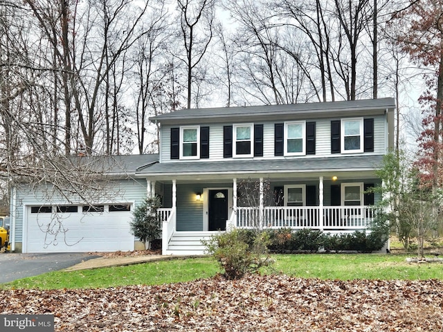
<path fill-rule="evenodd" d="M 383 156 L 338 156 L 329 158 L 297 158 L 272 160 L 195 161 L 154 163 L 138 169 L 137 175 L 145 176 L 213 176 L 226 174 L 309 173 L 334 171 L 371 171 L 381 165 Z"/>

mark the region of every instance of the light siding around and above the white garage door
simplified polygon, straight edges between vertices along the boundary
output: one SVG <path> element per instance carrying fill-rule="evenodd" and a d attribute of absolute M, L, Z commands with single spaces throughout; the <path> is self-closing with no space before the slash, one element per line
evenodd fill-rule
<path fill-rule="evenodd" d="M 115 194 L 111 197 L 102 197 L 98 199 L 97 204 L 106 203 L 133 203 L 133 209 L 138 203 L 141 203 L 146 196 L 146 181 L 140 180 L 121 180 L 114 181 L 113 187 Z M 107 192 L 109 195 L 109 192 Z M 25 205 L 82 205 L 80 200 L 75 203 L 69 203 L 61 196 L 54 196 L 49 198 L 44 190 L 38 192 L 32 192 L 30 190 L 17 188 L 17 204 L 15 206 L 15 241 L 23 241 L 23 228 L 24 228 L 24 207 Z M 45 202 L 42 204 L 42 202 Z M 76 204 L 77 203 L 77 204 Z"/>

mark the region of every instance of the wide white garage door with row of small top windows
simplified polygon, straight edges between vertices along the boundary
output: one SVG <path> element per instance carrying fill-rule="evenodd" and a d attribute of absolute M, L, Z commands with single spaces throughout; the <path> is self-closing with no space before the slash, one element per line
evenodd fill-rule
<path fill-rule="evenodd" d="M 33 206 L 26 216 L 24 252 L 134 250 L 130 204 Z"/>

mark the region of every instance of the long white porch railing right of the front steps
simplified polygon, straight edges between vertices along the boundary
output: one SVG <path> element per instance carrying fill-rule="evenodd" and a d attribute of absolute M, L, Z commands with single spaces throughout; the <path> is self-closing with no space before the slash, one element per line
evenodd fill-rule
<path fill-rule="evenodd" d="M 238 207 L 237 228 L 314 228 L 320 230 L 363 230 L 374 219 L 370 206 L 269 206 L 264 208 L 260 225 L 260 209 Z"/>

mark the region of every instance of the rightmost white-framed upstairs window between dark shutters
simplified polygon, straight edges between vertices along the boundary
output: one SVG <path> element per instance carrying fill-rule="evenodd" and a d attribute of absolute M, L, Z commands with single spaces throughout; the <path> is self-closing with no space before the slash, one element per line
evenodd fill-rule
<path fill-rule="evenodd" d="M 341 120 L 341 153 L 363 152 L 363 118 Z"/>

